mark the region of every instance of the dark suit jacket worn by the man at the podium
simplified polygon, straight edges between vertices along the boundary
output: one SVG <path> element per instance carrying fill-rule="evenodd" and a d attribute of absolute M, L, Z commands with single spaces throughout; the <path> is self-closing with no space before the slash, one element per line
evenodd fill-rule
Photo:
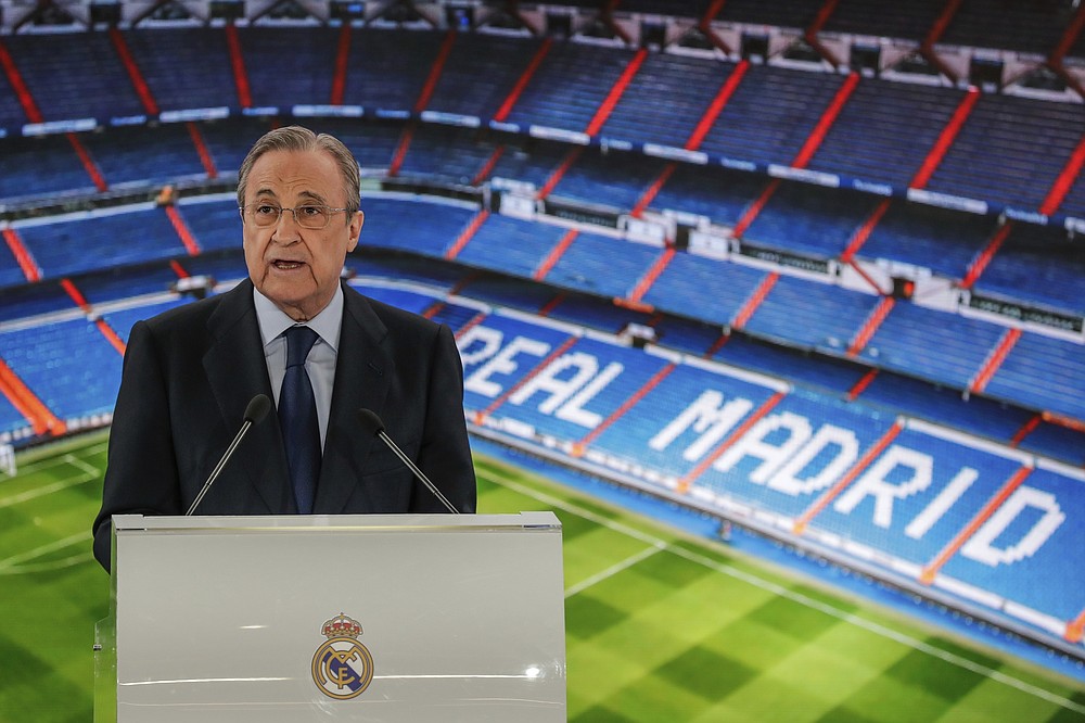
<path fill-rule="evenodd" d="M 357 413 L 375 411 L 463 512 L 475 478 L 459 353 L 446 326 L 367 299 L 345 283 L 343 330 L 315 513 L 444 512 Z M 108 570 L 110 518 L 183 515 L 241 427 L 250 399 L 275 398 L 253 284 L 140 321 L 125 354 L 94 556 Z M 255 424 L 196 515 L 296 512 L 275 409 Z"/>

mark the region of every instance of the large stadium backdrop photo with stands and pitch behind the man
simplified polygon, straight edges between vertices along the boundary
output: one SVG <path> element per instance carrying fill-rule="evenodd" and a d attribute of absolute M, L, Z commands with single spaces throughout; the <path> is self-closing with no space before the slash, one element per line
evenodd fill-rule
<path fill-rule="evenodd" d="M 0 2 L 0 721 L 93 719 L 128 333 L 290 124 L 562 522 L 570 720 L 1085 720 L 1076 0 Z"/>

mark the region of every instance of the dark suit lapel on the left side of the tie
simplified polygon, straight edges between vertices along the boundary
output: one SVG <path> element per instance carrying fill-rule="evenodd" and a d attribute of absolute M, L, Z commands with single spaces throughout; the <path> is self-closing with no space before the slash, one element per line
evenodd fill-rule
<path fill-rule="evenodd" d="M 253 305 L 252 281 L 246 279 L 224 294 L 222 302 L 207 321 L 207 328 L 212 341 L 204 355 L 204 370 L 226 427 L 232 434 L 240 428 L 245 407 L 254 396 L 266 394 L 275 399 Z M 290 489 L 286 453 L 275 410 L 248 430 L 231 466 L 247 472 L 269 513 L 296 510 Z"/>

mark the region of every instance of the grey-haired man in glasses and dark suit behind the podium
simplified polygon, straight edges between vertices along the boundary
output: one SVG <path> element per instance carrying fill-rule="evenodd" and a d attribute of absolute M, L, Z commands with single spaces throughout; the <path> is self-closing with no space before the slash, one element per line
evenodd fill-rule
<path fill-rule="evenodd" d="M 94 521 L 94 555 L 107 570 L 111 516 L 183 513 L 257 394 L 278 408 L 252 428 L 196 513 L 445 511 L 363 430 L 362 408 L 458 510 L 474 511 L 451 332 L 341 281 L 365 220 L 359 186 L 358 165 L 335 138 L 296 126 L 267 134 L 238 178 L 250 278 L 132 327 Z M 312 331 L 292 331 L 301 326 Z M 311 348 L 296 357 L 286 339 L 305 334 Z M 285 410 L 298 404 L 288 404 L 298 392 L 285 380 L 299 364 L 304 386 L 293 389 L 306 390 L 309 461 Z"/>

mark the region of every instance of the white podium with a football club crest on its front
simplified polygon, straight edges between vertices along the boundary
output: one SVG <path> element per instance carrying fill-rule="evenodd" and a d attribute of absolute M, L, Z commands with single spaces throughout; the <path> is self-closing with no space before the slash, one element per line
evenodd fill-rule
<path fill-rule="evenodd" d="M 565 720 L 551 512 L 113 523 L 95 721 Z"/>

